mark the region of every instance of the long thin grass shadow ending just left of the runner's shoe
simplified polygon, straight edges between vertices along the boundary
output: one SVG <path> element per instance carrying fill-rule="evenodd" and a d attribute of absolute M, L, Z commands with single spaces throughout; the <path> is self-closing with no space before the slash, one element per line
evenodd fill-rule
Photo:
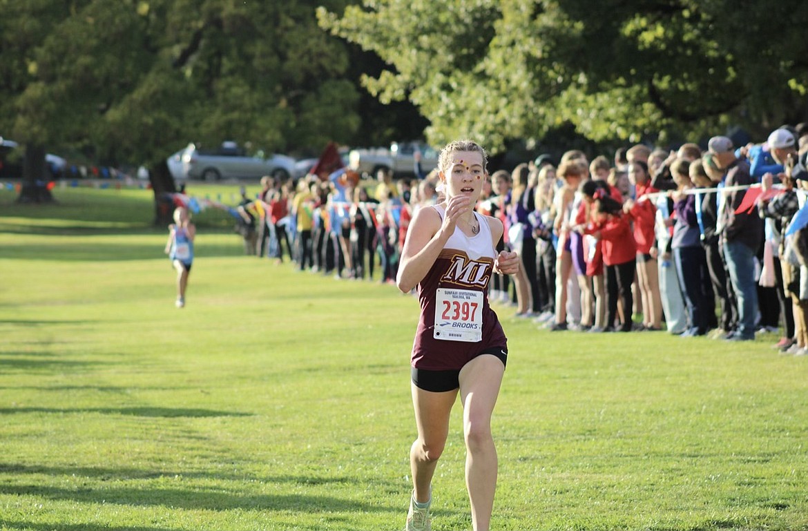
<path fill-rule="evenodd" d="M 286 511 L 305 512 L 390 512 L 401 508 L 383 507 L 364 501 L 323 495 L 256 495 L 242 491 L 223 492 L 221 487 L 209 490 L 189 488 L 77 488 L 68 489 L 43 485 L 2 485 L 0 494 L 40 496 L 85 504 L 120 504 L 126 506 L 160 506 L 183 510 L 208 511 Z"/>

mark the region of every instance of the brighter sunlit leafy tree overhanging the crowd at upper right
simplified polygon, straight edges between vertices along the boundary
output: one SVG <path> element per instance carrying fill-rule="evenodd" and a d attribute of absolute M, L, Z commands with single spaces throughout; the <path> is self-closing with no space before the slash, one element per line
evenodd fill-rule
<path fill-rule="evenodd" d="M 772 12 L 776 11 L 776 12 Z M 764 18 L 750 16 L 766 13 Z M 493 150 L 573 124 L 595 141 L 667 142 L 729 124 L 764 134 L 806 119 L 799 0 L 365 0 L 322 27 L 377 53 L 364 78 L 410 99 L 427 134 Z M 765 25 L 764 25 L 765 24 Z"/>

